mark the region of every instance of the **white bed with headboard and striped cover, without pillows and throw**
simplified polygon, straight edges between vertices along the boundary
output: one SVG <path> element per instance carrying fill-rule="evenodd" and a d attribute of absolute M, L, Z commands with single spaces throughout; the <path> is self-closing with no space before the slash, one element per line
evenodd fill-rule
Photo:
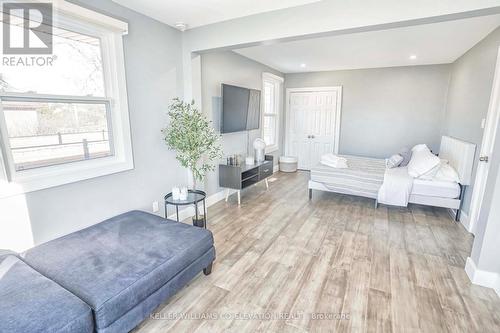
<path fill-rule="evenodd" d="M 409 203 L 450 208 L 456 211 L 458 219 L 465 188 L 471 184 L 475 152 L 474 144 L 443 136 L 439 157 L 454 167 L 460 183 L 414 179 Z M 322 165 L 311 169 L 310 198 L 313 190 L 377 198 L 376 190 L 384 182 L 385 161 L 344 157 L 350 165 L 348 169 L 334 169 Z"/>

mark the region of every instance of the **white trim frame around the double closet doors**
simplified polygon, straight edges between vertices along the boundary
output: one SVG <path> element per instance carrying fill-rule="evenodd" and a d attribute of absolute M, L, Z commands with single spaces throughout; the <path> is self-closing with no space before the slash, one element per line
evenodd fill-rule
<path fill-rule="evenodd" d="M 335 137 L 334 153 L 339 153 L 340 147 L 340 128 L 341 128 L 341 114 L 342 114 L 342 86 L 331 87 L 304 87 L 304 88 L 287 88 L 286 89 L 286 108 L 285 108 L 285 154 L 290 153 L 290 95 L 297 92 L 335 92 L 337 94 L 337 109 L 335 110 Z"/>

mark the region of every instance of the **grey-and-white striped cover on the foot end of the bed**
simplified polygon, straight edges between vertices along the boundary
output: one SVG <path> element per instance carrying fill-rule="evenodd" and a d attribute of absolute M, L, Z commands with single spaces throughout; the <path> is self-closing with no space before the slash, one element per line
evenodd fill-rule
<path fill-rule="evenodd" d="M 377 198 L 384 182 L 385 160 L 342 155 L 347 159 L 347 169 L 331 168 L 322 164 L 311 169 L 311 181 L 322 183 L 337 193 Z"/>

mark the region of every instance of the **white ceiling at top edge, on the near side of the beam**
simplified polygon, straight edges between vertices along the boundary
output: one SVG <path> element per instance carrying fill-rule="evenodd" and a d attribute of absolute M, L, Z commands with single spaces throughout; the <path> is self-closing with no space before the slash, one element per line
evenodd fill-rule
<path fill-rule="evenodd" d="M 320 0 L 113 0 L 114 2 L 174 26 L 189 28 Z"/>

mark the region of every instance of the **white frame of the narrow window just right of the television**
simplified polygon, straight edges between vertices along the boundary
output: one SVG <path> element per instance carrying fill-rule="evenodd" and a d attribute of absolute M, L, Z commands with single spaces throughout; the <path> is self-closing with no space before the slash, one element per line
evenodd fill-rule
<path fill-rule="evenodd" d="M 274 85 L 274 108 L 276 113 L 267 113 L 265 110 L 265 83 L 271 83 Z M 283 82 L 284 79 L 281 76 L 277 76 L 271 73 L 264 72 L 262 73 L 262 117 L 261 117 L 261 134 L 264 137 L 264 118 L 265 117 L 275 117 L 276 119 L 276 128 L 275 128 L 275 138 L 276 142 L 274 145 L 266 146 L 266 154 L 273 153 L 280 149 L 280 121 L 281 121 L 281 113 L 282 113 L 282 99 L 283 99 Z"/>

